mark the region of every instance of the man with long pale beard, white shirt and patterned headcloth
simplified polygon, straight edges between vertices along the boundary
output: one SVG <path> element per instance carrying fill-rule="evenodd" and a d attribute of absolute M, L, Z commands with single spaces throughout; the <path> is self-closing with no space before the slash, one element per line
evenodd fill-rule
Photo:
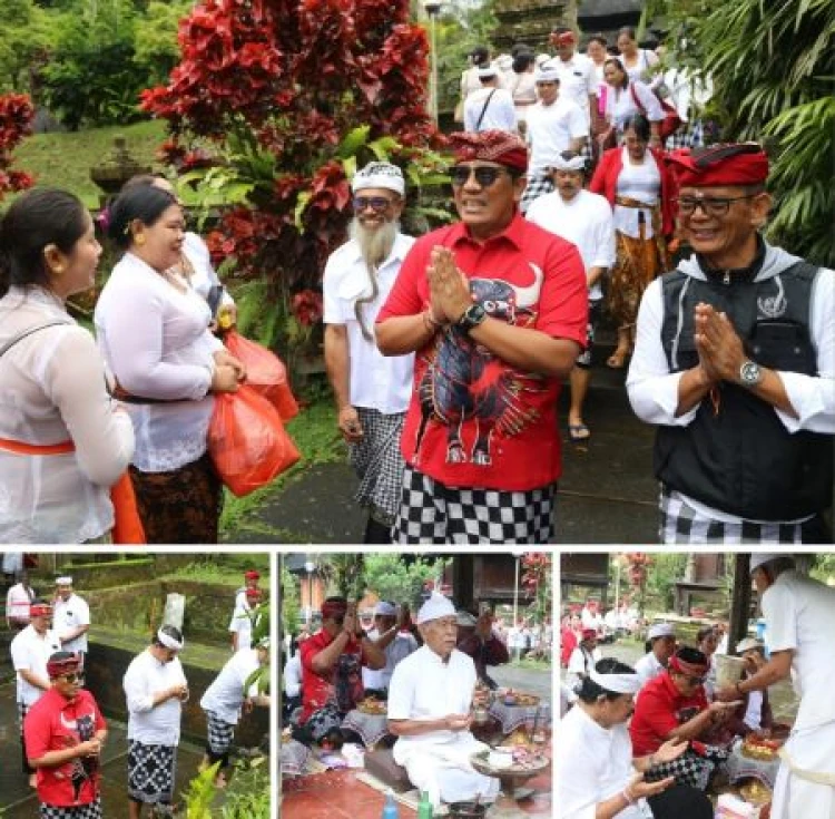
<path fill-rule="evenodd" d="M 384 358 L 374 322 L 414 240 L 400 232 L 405 183 L 399 167 L 374 162 L 351 185 L 351 238 L 325 265 L 325 364 L 340 432 L 360 477 L 356 500 L 369 510 L 364 543 L 391 543 L 400 505 L 400 435 L 412 394 L 414 354 Z"/>

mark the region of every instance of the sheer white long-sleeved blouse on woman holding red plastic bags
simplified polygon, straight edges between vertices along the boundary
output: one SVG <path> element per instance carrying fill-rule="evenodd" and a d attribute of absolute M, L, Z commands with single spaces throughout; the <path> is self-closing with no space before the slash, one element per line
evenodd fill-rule
<path fill-rule="evenodd" d="M 134 465 L 144 472 L 179 469 L 206 451 L 214 398 L 214 353 L 223 343 L 209 331 L 208 305 L 183 292 L 126 253 L 96 306 L 105 361 L 132 396 L 165 403 L 128 403 L 134 421 Z"/>

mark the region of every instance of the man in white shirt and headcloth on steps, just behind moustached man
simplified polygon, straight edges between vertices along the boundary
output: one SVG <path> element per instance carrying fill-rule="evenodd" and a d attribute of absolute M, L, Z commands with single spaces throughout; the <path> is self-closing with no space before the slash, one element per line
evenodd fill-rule
<path fill-rule="evenodd" d="M 560 89 L 556 68 L 538 68 L 533 75 L 539 101 L 528 111 L 525 140 L 530 147 L 528 185 L 519 207 L 527 213 L 531 203 L 554 188 L 552 168 L 564 150 L 579 154 L 589 138 L 589 124 L 580 107 Z"/>

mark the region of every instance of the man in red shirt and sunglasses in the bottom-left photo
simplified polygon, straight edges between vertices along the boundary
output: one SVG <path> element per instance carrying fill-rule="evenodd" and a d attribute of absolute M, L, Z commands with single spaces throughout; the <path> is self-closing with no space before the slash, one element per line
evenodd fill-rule
<path fill-rule="evenodd" d="M 42 819 L 101 819 L 99 757 L 107 724 L 92 694 L 81 688 L 78 654 L 49 657 L 51 688 L 23 722 L 29 764 L 37 770 Z"/>

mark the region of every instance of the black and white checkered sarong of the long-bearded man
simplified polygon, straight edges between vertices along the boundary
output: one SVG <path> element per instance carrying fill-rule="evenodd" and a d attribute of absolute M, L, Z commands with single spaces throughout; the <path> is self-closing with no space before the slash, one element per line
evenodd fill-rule
<path fill-rule="evenodd" d="M 384 415 L 380 410 L 356 408 L 363 427 L 363 439 L 348 447 L 351 466 L 360 477 L 354 499 L 369 508 L 372 517 L 391 526 L 397 514 L 403 485 L 403 456 L 400 433 L 405 412 Z"/>

